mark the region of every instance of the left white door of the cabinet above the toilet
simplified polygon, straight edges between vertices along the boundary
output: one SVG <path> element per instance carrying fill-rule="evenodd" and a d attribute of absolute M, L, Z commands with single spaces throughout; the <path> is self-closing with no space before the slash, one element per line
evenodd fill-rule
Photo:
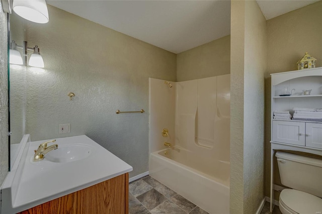
<path fill-rule="evenodd" d="M 305 146 L 305 123 L 273 121 L 273 141 Z"/>

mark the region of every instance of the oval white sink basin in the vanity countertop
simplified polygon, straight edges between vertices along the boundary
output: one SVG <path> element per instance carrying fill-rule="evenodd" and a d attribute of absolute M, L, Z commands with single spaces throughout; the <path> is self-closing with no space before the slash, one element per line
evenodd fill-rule
<path fill-rule="evenodd" d="M 44 160 L 56 163 L 72 162 L 87 158 L 94 148 L 86 144 L 58 145 L 58 149 L 48 152 Z"/>

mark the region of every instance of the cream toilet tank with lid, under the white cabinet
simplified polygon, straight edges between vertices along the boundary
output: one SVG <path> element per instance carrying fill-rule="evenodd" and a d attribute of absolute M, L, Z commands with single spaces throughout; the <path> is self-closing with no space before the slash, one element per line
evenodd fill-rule
<path fill-rule="evenodd" d="M 276 152 L 284 186 L 322 197 L 322 160 Z"/>

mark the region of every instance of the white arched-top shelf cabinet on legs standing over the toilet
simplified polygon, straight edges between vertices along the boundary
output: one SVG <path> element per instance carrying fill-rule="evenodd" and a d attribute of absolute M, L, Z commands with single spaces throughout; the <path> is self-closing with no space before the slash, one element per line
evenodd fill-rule
<path fill-rule="evenodd" d="M 276 150 L 300 151 L 322 156 L 322 122 L 273 119 L 274 111 L 293 108 L 322 109 L 322 68 L 271 74 L 271 207 L 274 204 L 274 155 Z M 290 96 L 280 96 L 285 91 Z M 294 89 L 294 90 L 292 90 Z M 304 95 L 303 90 L 311 90 Z"/>

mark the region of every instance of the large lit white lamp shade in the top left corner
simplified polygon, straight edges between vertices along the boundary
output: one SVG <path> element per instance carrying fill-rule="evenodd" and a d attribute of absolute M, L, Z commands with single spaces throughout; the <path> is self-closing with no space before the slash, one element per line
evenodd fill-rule
<path fill-rule="evenodd" d="M 45 0 L 1 0 L 3 10 L 11 14 L 12 9 L 22 18 L 35 23 L 49 21 L 48 9 Z"/>

